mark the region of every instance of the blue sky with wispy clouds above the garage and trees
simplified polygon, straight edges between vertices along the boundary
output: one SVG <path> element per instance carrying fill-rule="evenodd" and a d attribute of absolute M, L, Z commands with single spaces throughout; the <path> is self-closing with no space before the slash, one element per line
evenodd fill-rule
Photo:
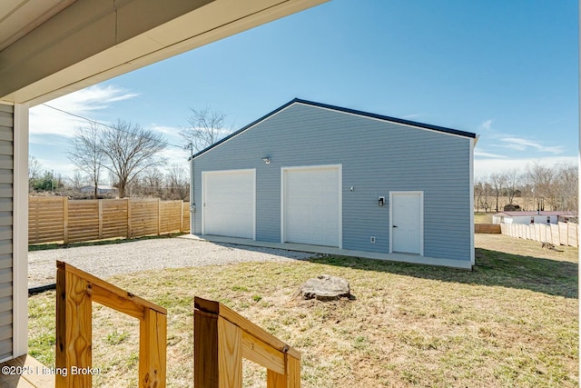
<path fill-rule="evenodd" d="M 576 163 L 578 15 L 575 0 L 332 0 L 46 104 L 181 144 L 192 106 L 238 129 L 300 97 L 477 133 L 477 177 Z M 83 120 L 39 105 L 30 124 L 30 154 L 72 174 Z"/>

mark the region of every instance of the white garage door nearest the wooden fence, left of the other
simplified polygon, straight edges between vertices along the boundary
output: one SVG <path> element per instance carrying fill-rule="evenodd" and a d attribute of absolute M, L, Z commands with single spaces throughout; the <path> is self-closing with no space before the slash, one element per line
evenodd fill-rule
<path fill-rule="evenodd" d="M 202 173 L 203 234 L 254 239 L 254 170 Z"/>

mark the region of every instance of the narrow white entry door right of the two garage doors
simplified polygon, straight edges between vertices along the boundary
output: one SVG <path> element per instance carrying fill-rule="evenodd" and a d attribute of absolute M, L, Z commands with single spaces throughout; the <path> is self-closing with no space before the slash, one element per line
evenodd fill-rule
<path fill-rule="evenodd" d="M 423 255 L 423 193 L 389 193 L 390 252 Z"/>

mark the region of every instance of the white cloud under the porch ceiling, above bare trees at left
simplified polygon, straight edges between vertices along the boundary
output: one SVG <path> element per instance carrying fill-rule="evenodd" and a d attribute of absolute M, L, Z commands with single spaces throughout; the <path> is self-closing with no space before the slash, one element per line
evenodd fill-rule
<path fill-rule="evenodd" d="M 30 140 L 33 143 L 42 143 L 44 142 L 43 134 L 72 137 L 74 129 L 86 125 L 87 121 L 71 114 L 92 118 L 91 114 L 94 111 L 103 110 L 112 103 L 127 100 L 136 95 L 113 85 L 94 85 L 56 98 L 46 104 L 34 106 L 29 116 Z"/>

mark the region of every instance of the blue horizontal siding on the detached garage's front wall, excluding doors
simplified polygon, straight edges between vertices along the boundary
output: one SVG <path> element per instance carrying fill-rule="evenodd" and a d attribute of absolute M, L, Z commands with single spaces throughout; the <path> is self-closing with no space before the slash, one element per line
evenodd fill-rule
<path fill-rule="evenodd" d="M 424 192 L 424 255 L 470 260 L 470 142 L 305 104 L 194 158 L 195 234 L 202 171 L 256 168 L 256 239 L 281 240 L 281 167 L 342 165 L 343 249 L 389 253 L 389 192 Z M 271 164 L 261 157 L 271 156 Z M 350 191 L 350 187 L 354 191 Z M 388 203 L 378 206 L 378 196 Z M 376 243 L 369 243 L 375 236 Z"/>

